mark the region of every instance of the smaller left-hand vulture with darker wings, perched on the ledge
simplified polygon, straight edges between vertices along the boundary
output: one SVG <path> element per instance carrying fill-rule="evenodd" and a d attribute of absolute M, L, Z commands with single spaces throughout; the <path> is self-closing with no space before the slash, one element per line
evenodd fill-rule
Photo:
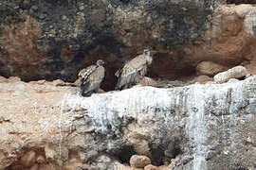
<path fill-rule="evenodd" d="M 82 96 L 90 96 L 99 91 L 104 77 L 104 61 L 97 60 L 96 65 L 90 65 L 79 72 Z"/>

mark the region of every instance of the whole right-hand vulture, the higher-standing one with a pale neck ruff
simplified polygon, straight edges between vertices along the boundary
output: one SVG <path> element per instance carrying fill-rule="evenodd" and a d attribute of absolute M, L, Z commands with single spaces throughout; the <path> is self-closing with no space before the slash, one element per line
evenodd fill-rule
<path fill-rule="evenodd" d="M 143 54 L 125 63 L 123 68 L 115 74 L 119 78 L 116 90 L 122 90 L 138 83 L 146 75 L 147 67 L 151 62 L 150 51 L 145 49 Z"/>

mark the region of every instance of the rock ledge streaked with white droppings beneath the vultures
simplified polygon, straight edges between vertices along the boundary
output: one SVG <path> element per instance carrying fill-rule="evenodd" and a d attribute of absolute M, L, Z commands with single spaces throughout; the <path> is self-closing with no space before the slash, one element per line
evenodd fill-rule
<path fill-rule="evenodd" d="M 8 80 L 0 83 L 1 169 L 123 170 L 136 154 L 158 169 L 255 167 L 256 76 L 91 97 Z"/>

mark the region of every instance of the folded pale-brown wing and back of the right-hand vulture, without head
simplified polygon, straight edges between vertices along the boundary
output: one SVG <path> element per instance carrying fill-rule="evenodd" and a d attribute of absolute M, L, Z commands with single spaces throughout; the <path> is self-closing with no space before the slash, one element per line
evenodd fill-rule
<path fill-rule="evenodd" d="M 137 56 L 137 58 L 127 62 L 122 69 L 118 70 L 115 74 L 119 77 L 116 89 L 121 89 L 124 85 L 132 83 L 139 71 L 145 68 L 147 60 L 143 55 Z"/>

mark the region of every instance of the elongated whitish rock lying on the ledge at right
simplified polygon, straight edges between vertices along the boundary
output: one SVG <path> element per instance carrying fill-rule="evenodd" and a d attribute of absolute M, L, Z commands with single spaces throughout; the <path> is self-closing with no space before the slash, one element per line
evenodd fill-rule
<path fill-rule="evenodd" d="M 247 69 L 243 66 L 236 66 L 226 72 L 222 72 L 214 76 L 214 81 L 224 83 L 229 81 L 230 78 L 242 78 L 250 76 Z"/>

